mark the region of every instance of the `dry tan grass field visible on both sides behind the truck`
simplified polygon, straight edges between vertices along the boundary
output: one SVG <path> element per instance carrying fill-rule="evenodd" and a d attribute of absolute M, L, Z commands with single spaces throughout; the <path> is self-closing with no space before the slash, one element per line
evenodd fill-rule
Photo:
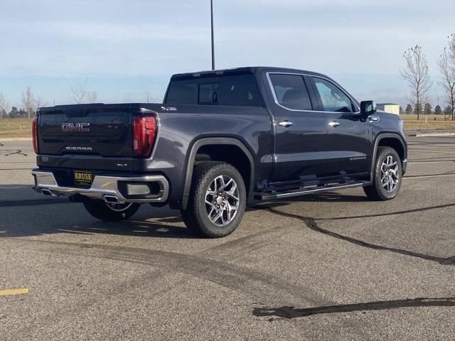
<path fill-rule="evenodd" d="M 428 115 L 425 123 L 425 115 L 402 114 L 405 121 L 405 130 L 420 129 L 455 129 L 455 121 L 444 120 L 444 115 Z M 0 139 L 15 137 L 31 137 L 32 119 L 0 119 Z"/>

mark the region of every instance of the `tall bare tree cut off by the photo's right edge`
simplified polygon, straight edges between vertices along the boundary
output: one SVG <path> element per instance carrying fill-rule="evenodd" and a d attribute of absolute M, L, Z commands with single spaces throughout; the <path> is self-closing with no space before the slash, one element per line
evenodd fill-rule
<path fill-rule="evenodd" d="M 449 38 L 449 50 L 444 48 L 444 53 L 438 60 L 441 82 L 439 85 L 444 89 L 445 102 L 451 108 L 452 121 L 455 112 L 455 34 Z"/>

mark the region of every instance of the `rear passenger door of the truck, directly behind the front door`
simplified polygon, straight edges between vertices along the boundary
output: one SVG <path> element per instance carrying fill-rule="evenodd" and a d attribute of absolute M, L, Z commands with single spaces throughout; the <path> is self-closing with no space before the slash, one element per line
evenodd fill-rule
<path fill-rule="evenodd" d="M 267 72 L 267 92 L 272 99 L 275 163 L 272 183 L 301 183 L 323 177 L 326 118 L 314 112 L 304 76 Z"/>

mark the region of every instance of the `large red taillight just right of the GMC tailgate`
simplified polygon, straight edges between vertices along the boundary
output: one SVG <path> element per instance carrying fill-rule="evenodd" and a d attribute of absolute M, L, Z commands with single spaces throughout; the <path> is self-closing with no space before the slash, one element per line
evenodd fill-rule
<path fill-rule="evenodd" d="M 134 156 L 147 158 L 154 146 L 156 119 L 154 116 L 134 117 L 133 149 Z"/>

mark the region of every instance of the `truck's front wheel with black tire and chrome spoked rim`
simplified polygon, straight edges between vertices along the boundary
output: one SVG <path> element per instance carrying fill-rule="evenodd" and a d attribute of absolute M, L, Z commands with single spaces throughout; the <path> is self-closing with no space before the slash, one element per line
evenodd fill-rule
<path fill-rule="evenodd" d="M 391 156 L 393 161 L 397 162 L 397 184 L 395 188 L 392 190 L 387 190 L 382 185 L 382 175 L 381 175 L 381 168 L 382 164 L 385 162 L 387 157 Z M 398 155 L 395 149 L 390 147 L 379 147 L 378 154 L 376 157 L 375 169 L 373 174 L 373 184 L 369 186 L 365 186 L 363 190 L 365 194 L 370 200 L 376 201 L 385 201 L 385 200 L 392 200 L 394 197 L 397 196 L 398 192 L 400 191 L 400 186 L 402 182 L 402 163 L 401 158 Z M 395 179 L 395 177 L 394 177 Z"/>

